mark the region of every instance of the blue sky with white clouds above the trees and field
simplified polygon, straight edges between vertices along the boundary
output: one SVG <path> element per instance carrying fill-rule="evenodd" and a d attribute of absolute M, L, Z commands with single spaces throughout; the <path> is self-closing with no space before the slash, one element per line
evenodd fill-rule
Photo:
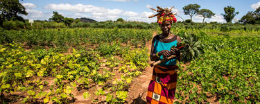
<path fill-rule="evenodd" d="M 48 20 L 53 11 L 59 12 L 64 17 L 73 19 L 87 17 L 96 21 L 116 20 L 123 18 L 126 21 L 156 22 L 156 17 L 148 18 L 156 14 L 150 7 L 170 8 L 174 6 L 173 13 L 177 13 L 177 21 L 189 19 L 184 15 L 183 7 L 189 4 L 198 4 L 200 9 L 206 8 L 216 15 L 205 21 L 217 21 L 225 23 L 222 13 L 224 7 L 232 6 L 239 15 L 234 17 L 233 22 L 238 21 L 248 11 L 254 11 L 260 6 L 260 0 L 24 0 L 20 3 L 26 7 L 28 15 L 22 15 L 24 19 Z M 181 18 L 180 18 L 181 17 Z M 202 17 L 196 15 L 193 21 L 202 22 Z"/>

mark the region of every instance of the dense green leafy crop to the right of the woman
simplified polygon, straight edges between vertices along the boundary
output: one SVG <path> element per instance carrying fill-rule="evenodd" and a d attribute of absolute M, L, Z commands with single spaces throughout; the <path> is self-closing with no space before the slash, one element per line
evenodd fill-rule
<path fill-rule="evenodd" d="M 176 98 L 186 103 L 207 103 L 210 98 L 219 103 L 259 103 L 259 34 L 196 34 L 205 54 L 180 69 Z"/>

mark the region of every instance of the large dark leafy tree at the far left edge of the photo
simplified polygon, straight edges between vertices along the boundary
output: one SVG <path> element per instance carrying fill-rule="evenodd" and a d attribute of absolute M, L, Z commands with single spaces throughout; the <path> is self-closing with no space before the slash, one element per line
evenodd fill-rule
<path fill-rule="evenodd" d="M 21 15 L 28 15 L 26 8 L 19 3 L 19 0 L 1 0 L 0 1 L 0 25 L 3 26 L 3 21 L 20 20 L 24 21 Z"/>

